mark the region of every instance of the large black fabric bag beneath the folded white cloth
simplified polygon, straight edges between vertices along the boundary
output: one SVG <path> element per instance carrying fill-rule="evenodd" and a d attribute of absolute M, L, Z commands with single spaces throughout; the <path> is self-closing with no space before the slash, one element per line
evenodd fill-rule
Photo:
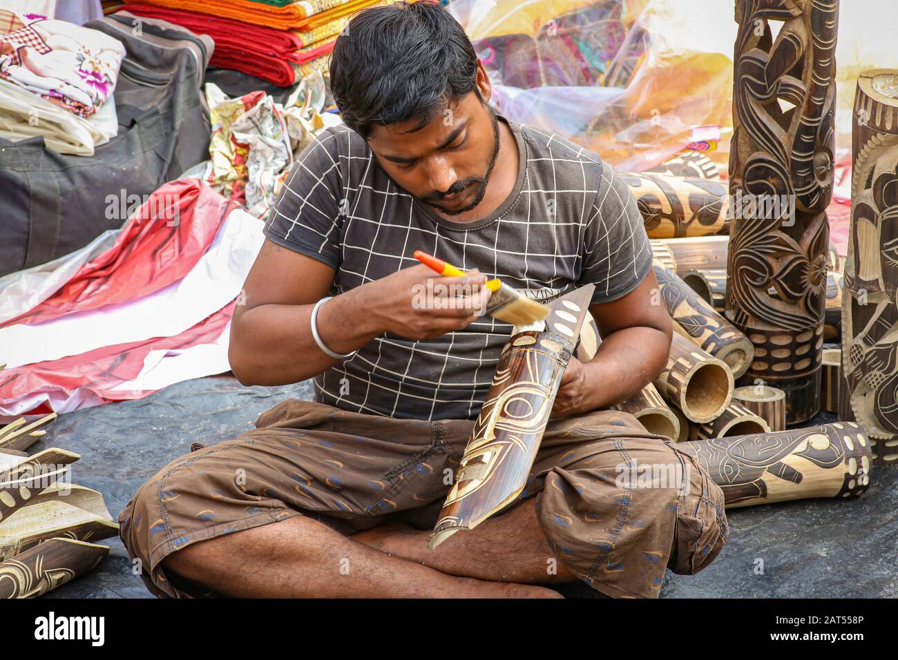
<path fill-rule="evenodd" d="M 145 199 L 209 157 L 201 86 L 212 41 L 167 22 L 138 23 L 127 13 L 85 27 L 125 45 L 114 92 L 119 135 L 92 156 L 58 154 L 42 137 L 0 139 L 0 276 L 121 226 L 129 200 Z"/>

